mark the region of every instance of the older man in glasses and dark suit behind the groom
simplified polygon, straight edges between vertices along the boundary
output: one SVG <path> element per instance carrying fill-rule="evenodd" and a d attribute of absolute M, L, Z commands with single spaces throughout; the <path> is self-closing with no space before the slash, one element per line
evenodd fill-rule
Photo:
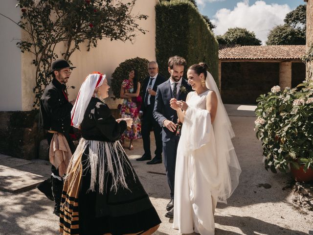
<path fill-rule="evenodd" d="M 153 128 L 156 139 L 156 151 L 154 159 L 147 162 L 147 164 L 159 164 L 162 163 L 162 129 L 153 117 L 153 109 L 155 107 L 157 86 L 165 82 L 165 78 L 158 74 L 158 65 L 156 61 L 151 61 L 148 63 L 148 72 L 150 76 L 146 77 L 143 81 L 141 96 L 143 97 L 143 104 L 141 105 L 141 110 L 139 114 L 139 117 L 142 117 L 141 135 L 143 141 L 143 149 L 145 152 L 141 158 L 138 158 L 136 160 L 151 160 L 150 131 Z"/>

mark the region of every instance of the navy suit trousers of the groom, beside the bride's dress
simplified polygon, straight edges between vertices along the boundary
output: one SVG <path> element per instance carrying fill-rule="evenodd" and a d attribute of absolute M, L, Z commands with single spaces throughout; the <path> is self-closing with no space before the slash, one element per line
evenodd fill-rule
<path fill-rule="evenodd" d="M 171 190 L 171 198 L 174 198 L 175 166 L 179 136 L 173 136 L 169 141 L 163 142 L 163 160 L 167 176 L 167 183 Z"/>

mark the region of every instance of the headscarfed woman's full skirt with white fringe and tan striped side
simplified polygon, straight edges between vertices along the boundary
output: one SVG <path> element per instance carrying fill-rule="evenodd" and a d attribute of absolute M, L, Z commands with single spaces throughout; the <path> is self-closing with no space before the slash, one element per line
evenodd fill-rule
<path fill-rule="evenodd" d="M 110 178 L 108 185 L 107 177 Z M 159 227 L 161 221 L 118 141 L 87 141 L 82 138 L 64 179 L 59 229 L 63 235 L 151 235 Z M 128 189 L 128 186 L 131 186 L 133 191 Z M 98 196 L 88 196 L 92 192 L 97 192 Z M 125 198 L 119 198 L 121 194 L 125 194 Z M 102 205 L 101 203 L 106 201 L 101 198 L 107 196 L 110 196 L 110 201 L 113 202 Z M 98 197 L 100 201 L 97 201 Z M 92 211 L 86 211 L 86 205 L 92 204 L 92 208 L 95 208 L 97 202 L 100 205 L 96 207 L 97 209 L 103 209 L 101 205 L 108 206 L 111 211 L 118 214 L 113 215 L 109 210 L 104 211 L 102 217 L 97 217 Z M 123 209 L 118 210 L 121 205 L 131 207 L 124 213 Z M 129 214 L 130 210 L 133 210 L 133 213 Z M 120 222 L 125 225 L 120 219 L 125 218 L 124 215 L 129 216 L 125 228 L 119 226 Z M 139 220 L 143 220 L 143 223 L 136 224 Z M 90 221 L 98 222 L 89 224 Z M 108 228 L 104 229 L 107 232 L 94 232 L 96 227 L 102 228 L 104 223 L 108 225 Z M 110 227 L 110 224 L 114 226 Z M 134 233 L 135 231 L 141 232 Z"/>

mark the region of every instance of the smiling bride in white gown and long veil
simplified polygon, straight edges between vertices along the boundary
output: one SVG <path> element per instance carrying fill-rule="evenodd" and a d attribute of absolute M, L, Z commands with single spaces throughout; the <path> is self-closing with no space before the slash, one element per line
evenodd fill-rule
<path fill-rule="evenodd" d="M 205 63 L 188 68 L 194 92 L 186 102 L 171 99 L 183 123 L 179 140 L 173 228 L 181 234 L 214 235 L 217 202 L 226 203 L 241 168 L 231 142 L 234 132 L 217 85 Z"/>

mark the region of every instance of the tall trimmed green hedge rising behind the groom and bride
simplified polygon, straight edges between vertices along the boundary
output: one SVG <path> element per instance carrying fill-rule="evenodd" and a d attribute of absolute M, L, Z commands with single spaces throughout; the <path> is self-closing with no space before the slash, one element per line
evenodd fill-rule
<path fill-rule="evenodd" d="M 187 68 L 205 62 L 218 84 L 218 53 L 218 42 L 190 1 L 162 1 L 156 5 L 156 61 L 161 74 L 169 74 L 169 57 L 179 55 L 186 59 Z"/>

